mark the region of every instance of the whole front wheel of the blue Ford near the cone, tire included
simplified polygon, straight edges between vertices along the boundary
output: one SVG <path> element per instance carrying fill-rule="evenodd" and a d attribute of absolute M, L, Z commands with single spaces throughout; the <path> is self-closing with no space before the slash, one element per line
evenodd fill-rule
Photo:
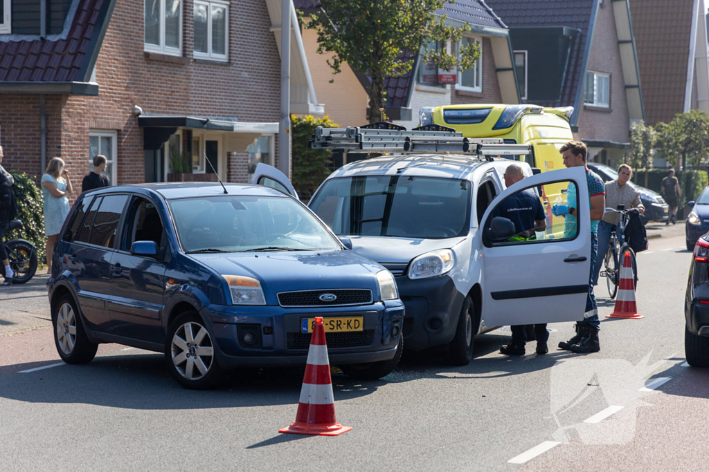
<path fill-rule="evenodd" d="M 215 350 L 213 336 L 196 311 L 182 313 L 167 328 L 167 369 L 185 388 L 207 390 L 218 386 L 224 372 Z"/>

